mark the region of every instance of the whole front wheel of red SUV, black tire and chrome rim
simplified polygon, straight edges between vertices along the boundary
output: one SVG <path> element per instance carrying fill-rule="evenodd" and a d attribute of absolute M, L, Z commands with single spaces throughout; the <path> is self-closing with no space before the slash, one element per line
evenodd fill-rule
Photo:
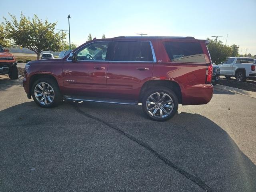
<path fill-rule="evenodd" d="M 58 84 L 50 78 L 36 80 L 32 86 L 31 94 L 34 102 L 44 108 L 57 106 L 62 100 Z"/>

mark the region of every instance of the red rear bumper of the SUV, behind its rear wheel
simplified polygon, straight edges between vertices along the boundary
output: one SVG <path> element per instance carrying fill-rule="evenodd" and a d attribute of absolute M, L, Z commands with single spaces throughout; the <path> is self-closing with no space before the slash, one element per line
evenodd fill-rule
<path fill-rule="evenodd" d="M 212 84 L 182 85 L 182 105 L 207 104 L 212 99 Z"/>

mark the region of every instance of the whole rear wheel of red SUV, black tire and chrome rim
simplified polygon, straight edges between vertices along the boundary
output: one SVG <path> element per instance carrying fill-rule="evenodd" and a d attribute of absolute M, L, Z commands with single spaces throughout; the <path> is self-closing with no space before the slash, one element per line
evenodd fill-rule
<path fill-rule="evenodd" d="M 155 121 L 166 121 L 178 110 L 178 98 L 168 88 L 150 89 L 142 98 L 142 109 L 146 116 Z"/>

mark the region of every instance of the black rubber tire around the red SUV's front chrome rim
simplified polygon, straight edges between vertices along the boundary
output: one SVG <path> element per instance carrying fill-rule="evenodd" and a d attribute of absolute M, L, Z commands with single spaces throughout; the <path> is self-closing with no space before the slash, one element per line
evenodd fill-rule
<path fill-rule="evenodd" d="M 38 101 L 36 99 L 36 96 L 35 96 L 35 88 L 38 84 L 42 84 L 42 83 L 46 83 L 45 85 L 49 84 L 51 87 L 52 87 L 52 90 L 53 90 L 53 100 L 51 103 L 48 103 L 48 104 L 42 104 L 40 103 L 40 101 Z M 40 89 L 38 89 L 40 90 Z M 40 90 L 41 91 L 41 90 Z M 55 107 L 57 106 L 58 104 L 60 104 L 60 102 L 62 101 L 62 94 L 60 93 L 60 88 L 57 84 L 57 82 L 51 78 L 40 78 L 38 80 L 36 80 L 34 82 L 34 84 L 32 85 L 31 87 L 31 90 L 30 90 L 30 93 L 34 99 L 34 102 L 36 102 L 36 104 L 38 104 L 38 106 L 40 107 L 43 107 L 43 108 L 52 108 L 52 107 Z M 38 98 L 38 97 L 37 97 Z M 42 97 L 39 97 L 39 99 L 42 98 Z M 52 98 L 51 98 L 52 99 Z M 46 100 L 49 102 L 49 100 L 46 98 Z M 45 103 L 45 102 L 44 102 Z"/>

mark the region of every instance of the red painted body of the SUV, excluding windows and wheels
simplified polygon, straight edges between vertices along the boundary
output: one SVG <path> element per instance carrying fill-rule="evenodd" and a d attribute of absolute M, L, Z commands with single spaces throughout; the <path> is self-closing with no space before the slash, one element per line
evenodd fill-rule
<path fill-rule="evenodd" d="M 96 41 L 151 41 L 156 62 L 91 62 L 67 61 L 62 59 L 37 60 L 30 62 L 23 80 L 24 89 L 30 96 L 29 82 L 36 74 L 48 74 L 56 78 L 62 94 L 89 95 L 95 97 L 122 98 L 138 100 L 143 84 L 149 80 L 168 80 L 176 82 L 182 92 L 182 104 L 206 104 L 213 94 L 211 84 L 206 84 L 206 68 L 211 65 L 205 40 L 167 39 L 168 41 L 200 42 L 206 63 L 172 62 L 163 46 L 166 39 L 156 38 L 113 38 Z M 74 50 L 74 52 L 76 51 Z M 102 67 L 102 69 L 94 69 Z M 138 70 L 148 68 L 148 70 Z"/>

